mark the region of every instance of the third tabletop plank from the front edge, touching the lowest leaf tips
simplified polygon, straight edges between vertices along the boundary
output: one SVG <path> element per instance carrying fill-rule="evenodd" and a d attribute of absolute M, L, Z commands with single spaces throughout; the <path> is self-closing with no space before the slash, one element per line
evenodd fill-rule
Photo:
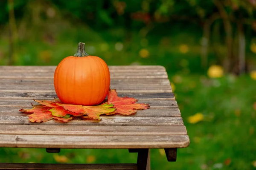
<path fill-rule="evenodd" d="M 0 125 L 66 125 L 66 126 L 86 126 L 86 125 L 103 125 L 103 126 L 139 126 L 139 125 L 184 125 L 181 117 L 133 117 L 133 116 L 101 116 L 102 120 L 80 120 L 74 119 L 68 123 L 56 122 L 49 120 L 38 124 L 29 122 L 26 116 L 1 116 Z"/>

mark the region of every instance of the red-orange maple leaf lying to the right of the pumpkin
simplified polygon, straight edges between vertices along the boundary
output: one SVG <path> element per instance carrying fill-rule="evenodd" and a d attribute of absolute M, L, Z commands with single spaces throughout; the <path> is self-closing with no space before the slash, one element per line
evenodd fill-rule
<path fill-rule="evenodd" d="M 122 115 L 130 115 L 137 112 L 138 110 L 143 110 L 149 108 L 148 104 L 136 103 L 137 99 L 131 97 L 119 97 L 115 89 L 110 89 L 108 91 L 108 104 L 113 104 L 116 111 L 110 114 L 120 113 Z"/>

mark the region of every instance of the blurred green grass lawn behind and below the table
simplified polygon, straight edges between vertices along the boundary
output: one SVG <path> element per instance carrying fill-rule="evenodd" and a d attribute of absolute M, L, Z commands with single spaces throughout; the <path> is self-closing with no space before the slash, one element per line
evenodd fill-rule
<path fill-rule="evenodd" d="M 253 110 L 256 82 L 248 75 L 207 78 L 205 69 L 200 66 L 198 35 L 191 32 L 181 35 L 165 29 L 161 32 L 164 36 L 153 30 L 142 37 L 138 31 L 132 32 L 131 40 L 126 40 L 126 32 L 119 28 L 96 32 L 84 26 L 60 26 L 58 31 L 58 34 L 53 31 L 54 42 L 45 40 L 41 32 L 24 33 L 27 38 L 17 43 L 14 64 L 57 65 L 64 57 L 75 54 L 78 42 L 85 42 L 86 51 L 102 57 L 108 65 L 166 67 L 175 85 L 175 96 L 191 143 L 187 148 L 178 149 L 176 162 L 168 162 L 163 150 L 152 149 L 152 170 L 256 169 L 252 164 L 256 161 L 256 111 Z M 141 43 L 143 39 L 148 40 L 148 45 Z M 123 43 L 122 51 L 115 49 L 116 42 Z M 1 65 L 7 63 L 7 58 L 3 57 L 8 56 L 7 44 L 8 39 L 3 36 Z M 188 53 L 179 51 L 180 44 L 189 46 Z M 142 48 L 149 51 L 148 58 L 139 56 Z M 211 51 L 209 56 L 209 61 L 216 60 Z M 195 113 L 203 113 L 204 120 L 190 124 L 187 119 Z M 63 149 L 53 154 L 46 153 L 45 149 L 0 148 L 0 162 L 57 163 L 56 155 L 66 156 L 65 163 L 135 163 L 137 157 L 128 150 Z"/>

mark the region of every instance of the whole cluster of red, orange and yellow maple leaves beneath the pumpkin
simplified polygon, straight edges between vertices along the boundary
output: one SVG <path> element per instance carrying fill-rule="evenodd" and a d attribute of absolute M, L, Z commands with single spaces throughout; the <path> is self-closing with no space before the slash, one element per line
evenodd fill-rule
<path fill-rule="evenodd" d="M 100 120 L 102 114 L 129 115 L 136 113 L 137 110 L 149 108 L 148 104 L 136 103 L 137 100 L 130 97 L 118 97 L 116 90 L 109 90 L 108 102 L 97 106 L 83 106 L 64 104 L 59 99 L 35 100 L 41 105 L 35 105 L 32 109 L 21 108 L 19 111 L 23 113 L 32 113 L 29 115 L 30 122 L 46 122 L 56 119 L 61 122 L 68 122 L 73 117 L 78 116 L 80 119 L 96 119 Z"/>

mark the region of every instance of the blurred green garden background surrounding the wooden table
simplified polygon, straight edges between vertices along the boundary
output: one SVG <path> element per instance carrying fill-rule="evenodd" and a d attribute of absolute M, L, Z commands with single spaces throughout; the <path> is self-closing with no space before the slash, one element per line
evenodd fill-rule
<path fill-rule="evenodd" d="M 256 0 L 0 0 L 0 65 L 163 65 L 191 139 L 152 170 L 256 169 Z M 135 163 L 128 150 L 0 148 L 0 162 Z"/>

